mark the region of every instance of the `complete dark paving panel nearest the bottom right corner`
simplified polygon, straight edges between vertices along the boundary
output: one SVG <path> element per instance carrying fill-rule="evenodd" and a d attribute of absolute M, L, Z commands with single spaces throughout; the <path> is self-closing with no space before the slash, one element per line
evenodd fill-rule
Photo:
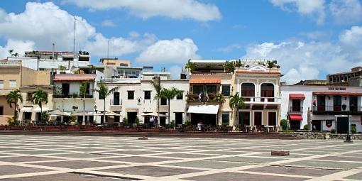
<path fill-rule="evenodd" d="M 323 170 L 323 169 L 314 169 L 314 168 L 292 168 L 292 167 L 278 167 L 278 166 L 266 166 L 262 168 L 251 168 L 243 171 L 251 172 L 269 172 L 269 173 L 278 173 L 278 174 L 287 174 L 287 175 L 306 175 L 313 177 L 320 177 L 324 175 L 329 175 L 340 170 Z"/>

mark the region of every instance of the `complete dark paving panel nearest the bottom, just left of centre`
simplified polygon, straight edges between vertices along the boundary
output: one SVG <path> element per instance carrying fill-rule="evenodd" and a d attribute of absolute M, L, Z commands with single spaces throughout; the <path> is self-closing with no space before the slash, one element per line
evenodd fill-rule
<path fill-rule="evenodd" d="M 115 172 L 121 174 L 131 174 L 131 175 L 145 175 L 152 177 L 164 177 L 164 176 L 180 175 L 191 172 L 201 172 L 203 170 L 193 170 L 193 169 L 184 169 L 184 168 L 165 168 L 165 167 L 156 167 L 156 166 L 136 166 L 129 168 L 112 168 L 112 169 L 105 169 L 98 171 Z"/>

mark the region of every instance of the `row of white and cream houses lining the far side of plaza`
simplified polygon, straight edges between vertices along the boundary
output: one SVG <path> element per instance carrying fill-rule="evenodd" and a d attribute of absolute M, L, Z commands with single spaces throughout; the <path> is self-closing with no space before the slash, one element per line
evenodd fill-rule
<path fill-rule="evenodd" d="M 0 121 L 4 124 L 6 117 L 13 115 L 4 97 L 18 88 L 26 98 L 17 106 L 22 121 L 39 119 L 40 109 L 31 103 L 31 92 L 44 89 L 49 100 L 43 110 L 75 115 L 79 123 L 119 122 L 124 118 L 128 123 L 136 120 L 148 123 L 149 117 L 141 115 L 159 109 L 161 115 L 170 116 L 170 120 L 161 116 L 160 125 L 173 120 L 176 125 L 190 121 L 191 124 L 246 128 L 279 126 L 281 119 L 287 119 L 292 129 L 309 125 L 317 131 L 330 131 L 336 128 L 336 115 L 349 114 L 357 131 L 362 131 L 362 88 L 334 84 L 336 75 L 328 79 L 331 82 L 285 85 L 280 82 L 283 75 L 276 60 L 189 60 L 185 63 L 180 78 L 170 79 L 170 72 L 164 69 L 132 67 L 131 62 L 125 60 L 101 59 L 101 65 L 91 65 L 86 52 L 33 51 L 27 52 L 26 57 L 8 57 L 0 63 Z M 356 71 L 351 75 L 356 82 Z M 109 89 L 119 89 L 105 99 L 99 97 L 94 89 L 101 80 Z M 158 106 L 151 81 L 164 88 L 175 87 L 182 95 L 170 102 L 161 99 Z M 84 82 L 87 92 L 81 97 L 79 87 Z M 236 93 L 243 97 L 243 106 L 229 104 Z M 104 110 L 120 116 L 103 120 L 99 114 Z M 57 118 L 58 121 L 68 119 L 67 116 Z"/>

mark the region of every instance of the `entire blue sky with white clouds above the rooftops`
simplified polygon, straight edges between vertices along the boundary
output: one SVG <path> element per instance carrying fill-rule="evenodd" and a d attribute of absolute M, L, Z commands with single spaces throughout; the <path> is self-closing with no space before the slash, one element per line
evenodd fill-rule
<path fill-rule="evenodd" d="M 277 59 L 290 84 L 361 65 L 358 0 L 0 1 L 0 56 L 72 50 L 72 16 L 94 64 L 109 40 L 110 57 L 173 75 L 189 58 Z"/>

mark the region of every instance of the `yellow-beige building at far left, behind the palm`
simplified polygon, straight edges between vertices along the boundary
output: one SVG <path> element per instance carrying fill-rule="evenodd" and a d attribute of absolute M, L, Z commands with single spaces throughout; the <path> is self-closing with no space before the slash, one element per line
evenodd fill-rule
<path fill-rule="evenodd" d="M 21 61 L 0 61 L 0 124 L 7 124 L 7 118 L 14 114 L 14 109 L 6 103 L 6 94 L 19 87 L 33 85 L 50 85 L 50 71 L 22 67 Z M 22 107 L 22 104 L 16 106 L 17 111 Z"/>

